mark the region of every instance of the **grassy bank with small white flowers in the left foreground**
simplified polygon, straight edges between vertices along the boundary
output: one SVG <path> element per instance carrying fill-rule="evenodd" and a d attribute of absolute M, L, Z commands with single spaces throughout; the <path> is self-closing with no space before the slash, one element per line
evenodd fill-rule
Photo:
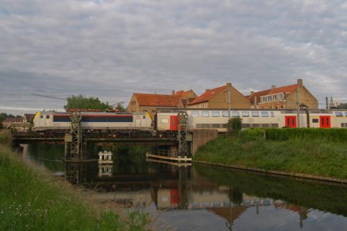
<path fill-rule="evenodd" d="M 146 214 L 99 211 L 82 192 L 0 144 L 0 230 L 146 230 Z"/>

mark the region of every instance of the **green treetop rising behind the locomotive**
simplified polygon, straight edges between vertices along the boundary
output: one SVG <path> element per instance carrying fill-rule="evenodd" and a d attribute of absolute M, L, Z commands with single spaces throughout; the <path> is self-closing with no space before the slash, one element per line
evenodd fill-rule
<path fill-rule="evenodd" d="M 102 103 L 97 97 L 85 97 L 83 95 L 67 97 L 67 105 L 64 106 L 66 110 L 69 109 L 111 109 L 106 103 Z"/>

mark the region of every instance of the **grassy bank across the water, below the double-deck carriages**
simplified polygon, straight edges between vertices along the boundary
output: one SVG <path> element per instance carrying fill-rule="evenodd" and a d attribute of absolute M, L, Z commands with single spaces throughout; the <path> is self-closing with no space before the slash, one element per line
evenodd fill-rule
<path fill-rule="evenodd" d="M 209 142 L 194 160 L 347 179 L 347 142 L 341 142 L 347 132 L 324 132 L 245 130 Z"/>

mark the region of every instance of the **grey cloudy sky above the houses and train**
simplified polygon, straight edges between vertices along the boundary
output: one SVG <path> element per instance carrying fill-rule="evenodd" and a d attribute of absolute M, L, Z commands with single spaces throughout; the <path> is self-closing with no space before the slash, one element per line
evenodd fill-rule
<path fill-rule="evenodd" d="M 62 108 L 71 94 L 232 83 L 304 84 L 347 101 L 347 3 L 291 0 L 0 0 L 0 111 Z"/>

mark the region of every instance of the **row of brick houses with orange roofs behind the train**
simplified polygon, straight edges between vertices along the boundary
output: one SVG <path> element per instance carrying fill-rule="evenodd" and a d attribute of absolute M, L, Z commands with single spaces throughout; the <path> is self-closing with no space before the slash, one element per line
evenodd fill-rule
<path fill-rule="evenodd" d="M 230 97 L 229 97 L 230 94 Z M 282 87 L 271 86 L 259 92 L 250 92 L 244 96 L 231 83 L 221 87 L 206 89 L 203 94 L 197 96 L 190 89 L 188 91 L 173 91 L 172 94 L 139 94 L 131 97 L 128 112 L 145 111 L 152 115 L 157 108 L 230 108 L 246 109 L 296 109 L 297 102 L 301 106 L 310 109 L 318 109 L 317 99 L 303 85 L 303 80 L 298 79 L 294 85 Z"/>

